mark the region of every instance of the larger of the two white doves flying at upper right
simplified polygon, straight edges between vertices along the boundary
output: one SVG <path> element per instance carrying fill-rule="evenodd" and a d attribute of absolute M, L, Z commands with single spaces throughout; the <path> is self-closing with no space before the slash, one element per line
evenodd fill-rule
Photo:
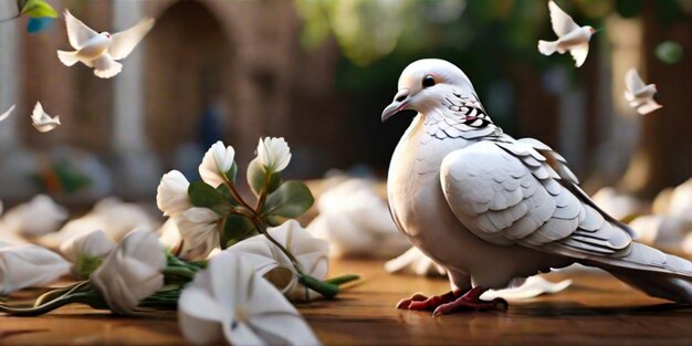
<path fill-rule="evenodd" d="M 554 1 L 548 2 L 553 31 L 557 35 L 556 41 L 538 41 L 538 51 L 543 55 L 553 55 L 558 52 L 565 54 L 569 51 L 577 67 L 584 64 L 589 54 L 589 40 L 596 30 L 589 25 L 579 27 L 569 14 L 565 13 Z"/>

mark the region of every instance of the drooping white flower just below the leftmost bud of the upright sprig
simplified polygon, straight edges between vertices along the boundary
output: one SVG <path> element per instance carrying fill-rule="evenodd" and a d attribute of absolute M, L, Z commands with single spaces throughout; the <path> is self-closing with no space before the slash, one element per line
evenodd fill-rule
<path fill-rule="evenodd" d="M 219 247 L 219 214 L 207 208 L 190 208 L 176 218 L 182 238 L 180 256 L 186 260 L 205 260 Z"/>

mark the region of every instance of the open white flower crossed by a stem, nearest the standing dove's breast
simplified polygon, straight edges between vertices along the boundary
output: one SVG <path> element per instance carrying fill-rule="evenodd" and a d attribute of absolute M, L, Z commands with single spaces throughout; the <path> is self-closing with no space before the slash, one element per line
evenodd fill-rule
<path fill-rule="evenodd" d="M 271 228 L 268 233 L 298 262 L 301 270 L 318 280 L 324 280 L 329 269 L 329 243 L 314 238 L 295 220 Z M 308 290 L 297 282 L 295 269 L 291 260 L 266 237 L 260 234 L 245 239 L 229 249 L 227 252 L 240 252 L 248 255 L 253 266 L 284 294 L 296 301 L 311 301 L 319 297 L 319 293 Z"/>

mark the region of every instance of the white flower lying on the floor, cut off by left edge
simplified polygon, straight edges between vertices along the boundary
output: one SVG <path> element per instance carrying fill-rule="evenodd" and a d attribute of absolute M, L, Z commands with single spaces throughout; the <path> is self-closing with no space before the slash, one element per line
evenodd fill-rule
<path fill-rule="evenodd" d="M 0 249 L 0 294 L 30 286 L 45 286 L 70 272 L 57 253 L 36 245 Z"/>

